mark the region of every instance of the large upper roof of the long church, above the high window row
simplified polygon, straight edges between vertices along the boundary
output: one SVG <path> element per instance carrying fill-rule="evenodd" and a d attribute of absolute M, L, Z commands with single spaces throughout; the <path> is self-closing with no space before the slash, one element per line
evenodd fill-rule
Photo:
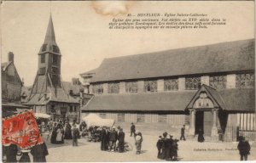
<path fill-rule="evenodd" d="M 104 59 L 90 82 L 254 70 L 254 40 Z"/>

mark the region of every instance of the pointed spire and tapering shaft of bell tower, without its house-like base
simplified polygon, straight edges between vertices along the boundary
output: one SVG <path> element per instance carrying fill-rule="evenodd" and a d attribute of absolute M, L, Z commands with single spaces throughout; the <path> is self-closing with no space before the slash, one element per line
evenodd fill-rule
<path fill-rule="evenodd" d="M 38 53 L 38 73 L 32 87 L 32 93 L 46 93 L 48 87 L 63 88 L 61 83 L 61 51 L 55 41 L 55 30 L 51 15 Z"/>

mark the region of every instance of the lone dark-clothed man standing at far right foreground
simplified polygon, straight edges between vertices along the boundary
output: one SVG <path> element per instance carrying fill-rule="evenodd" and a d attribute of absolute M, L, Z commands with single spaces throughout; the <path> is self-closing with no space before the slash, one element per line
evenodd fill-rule
<path fill-rule="evenodd" d="M 250 154 L 251 146 L 244 137 L 240 138 L 237 149 L 239 150 L 240 160 L 247 160 L 247 156 Z"/>

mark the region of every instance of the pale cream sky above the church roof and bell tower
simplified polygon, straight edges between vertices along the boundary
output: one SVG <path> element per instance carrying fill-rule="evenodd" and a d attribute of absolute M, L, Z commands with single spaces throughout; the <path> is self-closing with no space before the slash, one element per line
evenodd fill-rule
<path fill-rule="evenodd" d="M 61 50 L 61 78 L 71 82 L 95 69 L 102 60 L 218 42 L 254 38 L 253 1 L 230 2 L 3 2 L 1 6 L 1 62 L 15 53 L 15 67 L 31 86 L 38 70 L 38 52 L 49 22 Z M 227 25 L 203 30 L 110 30 L 113 18 L 126 14 L 208 14 Z"/>

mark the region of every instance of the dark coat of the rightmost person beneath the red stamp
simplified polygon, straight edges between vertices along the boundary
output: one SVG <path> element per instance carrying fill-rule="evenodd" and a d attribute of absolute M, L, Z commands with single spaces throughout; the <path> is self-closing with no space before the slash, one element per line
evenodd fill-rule
<path fill-rule="evenodd" d="M 45 156 L 49 155 L 46 144 L 40 143 L 33 146 L 31 155 L 33 156 L 33 162 L 46 162 Z"/>

